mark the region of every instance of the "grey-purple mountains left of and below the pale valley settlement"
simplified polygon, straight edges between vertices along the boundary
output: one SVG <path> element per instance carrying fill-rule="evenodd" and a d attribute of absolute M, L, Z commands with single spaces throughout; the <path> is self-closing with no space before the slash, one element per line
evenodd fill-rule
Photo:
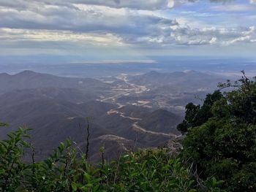
<path fill-rule="evenodd" d="M 0 74 L 0 122 L 10 123 L 0 128 L 0 137 L 18 126 L 32 128 L 30 142 L 37 160 L 42 160 L 67 138 L 84 150 L 86 117 L 90 117 L 90 159 L 99 161 L 101 146 L 105 146 L 106 158 L 113 159 L 138 147 L 165 145 L 180 134 L 176 125 L 182 118 L 173 112 L 102 101 L 115 93 L 113 86 L 91 78 L 31 71 Z"/>

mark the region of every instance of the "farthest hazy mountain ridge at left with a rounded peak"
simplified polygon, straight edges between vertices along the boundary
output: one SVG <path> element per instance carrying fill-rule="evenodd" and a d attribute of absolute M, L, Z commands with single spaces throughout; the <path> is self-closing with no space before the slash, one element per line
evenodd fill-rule
<path fill-rule="evenodd" d="M 0 74 L 0 93 L 31 88 L 76 88 L 81 91 L 105 90 L 109 84 L 91 78 L 58 77 L 23 71 L 18 74 Z"/>

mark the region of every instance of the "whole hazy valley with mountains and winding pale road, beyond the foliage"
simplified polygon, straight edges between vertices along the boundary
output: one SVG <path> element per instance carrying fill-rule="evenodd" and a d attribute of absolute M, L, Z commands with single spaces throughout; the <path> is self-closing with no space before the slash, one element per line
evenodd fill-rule
<path fill-rule="evenodd" d="M 95 79 L 31 71 L 0 74 L 0 121 L 10 123 L 0 137 L 18 126 L 32 128 L 39 161 L 67 138 L 83 150 L 89 117 L 91 161 L 99 161 L 102 146 L 111 160 L 127 150 L 170 145 L 182 137 L 176 126 L 185 105 L 200 104 L 198 98 L 224 80 L 195 71 Z"/>

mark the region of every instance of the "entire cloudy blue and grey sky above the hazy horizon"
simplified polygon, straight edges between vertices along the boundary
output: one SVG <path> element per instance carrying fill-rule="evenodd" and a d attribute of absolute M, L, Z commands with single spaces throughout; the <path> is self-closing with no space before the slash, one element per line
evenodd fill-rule
<path fill-rule="evenodd" d="M 255 58 L 256 0 L 0 0 L 0 56 Z"/>

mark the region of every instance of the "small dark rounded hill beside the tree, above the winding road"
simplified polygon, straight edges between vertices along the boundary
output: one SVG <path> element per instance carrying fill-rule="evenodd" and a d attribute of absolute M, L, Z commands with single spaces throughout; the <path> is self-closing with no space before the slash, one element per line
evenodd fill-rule
<path fill-rule="evenodd" d="M 180 132 L 176 126 L 182 120 L 181 116 L 167 110 L 155 110 L 146 115 L 138 124 L 148 131 L 179 135 Z"/>

